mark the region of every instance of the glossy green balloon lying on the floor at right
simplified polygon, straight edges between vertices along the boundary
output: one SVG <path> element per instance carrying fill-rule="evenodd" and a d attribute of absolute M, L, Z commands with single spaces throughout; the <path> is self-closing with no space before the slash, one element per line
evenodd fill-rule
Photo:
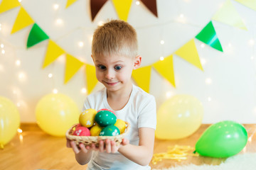
<path fill-rule="evenodd" d="M 196 142 L 196 152 L 206 157 L 225 158 L 238 154 L 247 143 L 247 132 L 239 123 L 222 121 L 210 125 Z"/>

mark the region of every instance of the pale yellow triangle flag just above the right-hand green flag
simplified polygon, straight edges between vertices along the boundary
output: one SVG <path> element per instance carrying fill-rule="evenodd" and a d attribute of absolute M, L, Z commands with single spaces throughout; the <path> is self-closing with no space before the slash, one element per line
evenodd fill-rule
<path fill-rule="evenodd" d="M 212 19 L 220 23 L 225 23 L 230 26 L 247 30 L 245 24 L 242 22 L 242 18 L 230 0 L 225 1 L 223 6 L 214 14 Z"/>

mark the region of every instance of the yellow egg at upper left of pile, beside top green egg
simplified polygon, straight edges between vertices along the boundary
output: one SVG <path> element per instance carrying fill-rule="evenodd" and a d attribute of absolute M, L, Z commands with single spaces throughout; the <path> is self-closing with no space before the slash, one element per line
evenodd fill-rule
<path fill-rule="evenodd" d="M 92 127 L 92 125 L 95 123 L 96 114 L 97 111 L 95 111 L 93 108 L 83 111 L 79 116 L 80 125 L 85 126 L 86 128 Z"/>

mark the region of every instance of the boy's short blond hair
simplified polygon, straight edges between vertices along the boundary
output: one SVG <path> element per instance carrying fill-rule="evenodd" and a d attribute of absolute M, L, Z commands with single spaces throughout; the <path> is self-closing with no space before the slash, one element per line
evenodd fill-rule
<path fill-rule="evenodd" d="M 136 57 L 137 50 L 136 30 L 127 22 L 112 20 L 95 30 L 92 39 L 92 57 L 95 55 Z"/>

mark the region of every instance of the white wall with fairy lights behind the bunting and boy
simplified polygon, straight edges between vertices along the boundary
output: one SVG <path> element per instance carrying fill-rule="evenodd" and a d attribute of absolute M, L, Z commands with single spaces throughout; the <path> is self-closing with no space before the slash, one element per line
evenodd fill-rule
<path fill-rule="evenodd" d="M 128 22 L 136 28 L 139 38 L 139 54 L 142 55 L 142 66 L 152 64 L 161 56 L 171 55 L 194 38 L 211 21 L 225 0 L 158 0 L 159 17 L 151 14 L 144 5 L 133 1 Z M 100 21 L 117 18 L 111 1 L 107 1 L 97 14 L 95 21 L 90 21 L 89 0 L 78 0 L 65 9 L 63 0 L 22 0 L 21 4 L 39 26 L 66 52 L 79 60 L 92 64 L 90 58 L 92 33 Z M 216 123 L 220 120 L 236 120 L 239 123 L 255 123 L 256 91 L 256 11 L 232 1 L 247 27 L 246 30 L 234 28 L 213 21 L 213 26 L 220 39 L 224 52 L 212 47 L 201 47 L 196 40 L 198 54 L 204 72 L 193 67 L 180 57 L 174 57 L 174 74 L 176 88 L 160 77 L 156 72 L 151 74 L 150 93 L 156 97 L 157 106 L 161 106 L 171 94 L 189 94 L 203 103 L 203 123 Z M 53 5 L 59 4 L 54 10 Z M 0 96 L 5 96 L 18 104 L 21 122 L 36 122 L 36 103 L 46 94 L 58 89 L 59 93 L 73 98 L 79 108 L 86 94 L 81 93 L 85 84 L 85 68 L 64 84 L 65 58 L 59 59 L 41 69 L 48 40 L 26 49 L 26 40 L 32 26 L 11 35 L 11 28 L 18 14 L 19 7 L 0 14 L 0 43 L 5 53 L 0 51 Z M 183 14 L 183 18 L 181 18 Z M 61 18 L 63 24 L 55 21 Z M 164 45 L 160 41 L 164 40 Z M 83 47 L 78 42 L 84 42 Z M 254 42 L 254 43 L 253 43 Z M 21 61 L 16 66 L 16 60 Z M 18 78 L 23 72 L 25 77 Z M 53 78 L 48 78 L 52 73 Z M 206 84 L 206 79 L 211 84 Z M 97 84 L 95 90 L 102 85 Z M 211 98 L 209 101 L 208 98 Z"/>

